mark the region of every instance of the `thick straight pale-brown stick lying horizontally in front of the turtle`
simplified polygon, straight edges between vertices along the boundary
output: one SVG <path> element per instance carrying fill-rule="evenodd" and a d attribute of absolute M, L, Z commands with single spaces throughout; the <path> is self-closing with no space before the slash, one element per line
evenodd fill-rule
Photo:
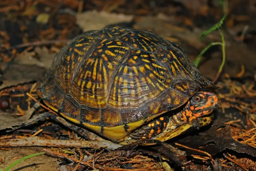
<path fill-rule="evenodd" d="M 80 147 L 97 148 L 108 146 L 107 149 L 115 150 L 122 145 L 111 141 L 74 141 L 74 140 L 46 140 L 38 137 L 3 139 L 0 140 L 1 147 L 22 147 L 22 146 L 44 146 L 44 147 Z"/>

